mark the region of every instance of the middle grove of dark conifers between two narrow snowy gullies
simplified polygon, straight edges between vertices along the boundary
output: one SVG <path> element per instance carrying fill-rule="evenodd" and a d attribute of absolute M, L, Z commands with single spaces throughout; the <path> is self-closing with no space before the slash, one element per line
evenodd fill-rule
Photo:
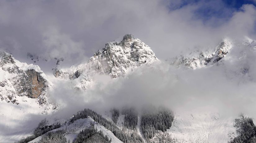
<path fill-rule="evenodd" d="M 135 108 L 123 108 L 124 126 L 128 129 L 135 129 L 138 124 L 138 112 Z"/>

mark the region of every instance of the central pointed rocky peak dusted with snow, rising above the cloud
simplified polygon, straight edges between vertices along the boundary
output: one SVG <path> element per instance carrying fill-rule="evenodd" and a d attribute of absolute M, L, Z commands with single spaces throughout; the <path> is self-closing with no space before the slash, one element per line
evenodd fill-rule
<path fill-rule="evenodd" d="M 58 67 L 53 69 L 54 76 L 64 79 L 79 78 L 81 88 L 86 89 L 93 74 L 106 74 L 112 78 L 118 78 L 128 74 L 130 71 L 144 64 L 149 65 L 158 59 L 155 53 L 140 39 L 133 35 L 124 35 L 121 42 L 106 43 L 102 50 L 98 50 L 87 63 L 78 67 L 70 67 L 68 70 L 61 70 Z"/>

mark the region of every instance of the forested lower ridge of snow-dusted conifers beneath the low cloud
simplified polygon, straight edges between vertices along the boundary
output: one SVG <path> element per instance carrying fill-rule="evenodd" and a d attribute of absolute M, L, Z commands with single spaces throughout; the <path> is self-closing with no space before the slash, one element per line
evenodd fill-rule
<path fill-rule="evenodd" d="M 74 121 L 79 119 L 84 119 L 91 117 L 95 122 L 103 125 L 106 129 L 110 130 L 115 137 L 117 137 L 120 141 L 124 143 L 142 143 L 143 138 L 137 133 L 137 124 L 138 124 L 138 111 L 135 108 L 123 108 L 121 110 L 121 114 L 124 115 L 124 127 L 120 128 L 116 125 L 118 117 L 120 116 L 120 112 L 118 109 L 111 109 L 112 113 L 112 121 L 107 120 L 97 112 L 91 109 L 84 109 L 82 111 L 74 114 L 68 121 L 68 124 L 74 123 Z M 141 114 L 141 128 L 142 133 L 147 142 L 155 142 L 152 139 L 155 137 L 158 131 L 166 132 L 172 125 L 173 121 L 173 113 L 167 108 L 155 108 L 150 107 L 142 110 Z M 34 140 L 36 137 L 41 135 L 42 138 L 38 141 L 38 143 L 65 143 L 70 142 L 65 138 L 65 129 L 58 130 L 55 132 L 48 132 L 53 129 L 57 129 L 61 127 L 60 123 L 55 125 L 47 125 L 47 120 L 43 120 L 38 124 L 38 127 L 35 129 L 33 135 L 22 138 L 17 143 L 27 143 L 29 141 Z M 65 122 L 66 124 L 66 122 Z M 127 130 L 131 129 L 131 130 Z M 48 132 L 48 133 L 47 133 Z M 45 134 L 46 133 L 46 134 Z M 163 135 L 158 134 L 157 139 L 159 141 L 156 142 L 171 142 L 171 138 L 168 134 L 164 133 Z M 107 136 L 104 136 L 102 131 L 97 131 L 94 128 L 94 125 L 91 125 L 90 128 L 83 129 L 74 139 L 73 143 L 110 143 L 111 138 L 109 139 Z"/>

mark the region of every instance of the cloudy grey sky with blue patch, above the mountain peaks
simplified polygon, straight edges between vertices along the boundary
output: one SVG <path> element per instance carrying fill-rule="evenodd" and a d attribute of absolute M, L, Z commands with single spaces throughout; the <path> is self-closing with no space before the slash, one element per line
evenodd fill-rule
<path fill-rule="evenodd" d="M 63 57 L 70 67 L 130 33 L 159 59 L 167 59 L 187 49 L 215 47 L 226 36 L 256 39 L 254 4 L 253 0 L 1 1 L 0 47 L 21 62 L 33 63 L 26 58 L 29 52 L 47 60 Z"/>

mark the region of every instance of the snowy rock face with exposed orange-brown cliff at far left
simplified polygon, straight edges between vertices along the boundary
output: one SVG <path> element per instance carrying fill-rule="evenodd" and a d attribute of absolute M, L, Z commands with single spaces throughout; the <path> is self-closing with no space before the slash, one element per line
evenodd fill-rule
<path fill-rule="evenodd" d="M 43 71 L 38 66 L 20 63 L 4 51 L 0 52 L 0 56 L 0 74 L 2 75 L 0 98 L 2 101 L 18 104 L 16 96 L 38 98 L 45 95 L 48 82 L 42 76 Z"/>

